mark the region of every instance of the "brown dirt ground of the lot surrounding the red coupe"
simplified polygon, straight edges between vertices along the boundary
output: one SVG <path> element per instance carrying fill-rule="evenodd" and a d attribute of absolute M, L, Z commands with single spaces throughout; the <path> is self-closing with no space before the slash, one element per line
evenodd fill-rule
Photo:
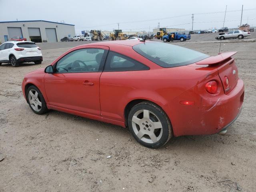
<path fill-rule="evenodd" d="M 227 134 L 172 138 L 156 150 L 119 126 L 29 108 L 24 74 L 83 43 L 40 44 L 42 64 L 0 66 L 0 192 L 256 191 L 256 42 L 222 43 L 222 52 L 238 51 L 245 83 L 242 113 Z M 210 55 L 219 50 L 214 42 L 174 44 Z"/>

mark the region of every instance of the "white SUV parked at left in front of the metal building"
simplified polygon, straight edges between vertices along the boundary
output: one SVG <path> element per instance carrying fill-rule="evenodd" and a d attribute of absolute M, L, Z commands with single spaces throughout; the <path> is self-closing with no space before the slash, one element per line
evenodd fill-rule
<path fill-rule="evenodd" d="M 34 42 L 9 41 L 0 46 L 0 65 L 11 63 L 13 67 L 18 67 L 24 62 L 41 64 L 42 60 L 41 49 Z"/>

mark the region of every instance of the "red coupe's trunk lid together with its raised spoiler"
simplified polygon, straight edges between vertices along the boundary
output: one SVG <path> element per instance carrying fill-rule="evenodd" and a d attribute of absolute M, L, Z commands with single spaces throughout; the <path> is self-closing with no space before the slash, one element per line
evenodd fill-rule
<path fill-rule="evenodd" d="M 210 68 L 217 68 L 225 94 L 228 94 L 238 82 L 238 70 L 234 58 L 237 52 L 226 52 L 217 56 L 210 56 L 204 60 L 196 62 L 196 65 L 208 65 Z"/>

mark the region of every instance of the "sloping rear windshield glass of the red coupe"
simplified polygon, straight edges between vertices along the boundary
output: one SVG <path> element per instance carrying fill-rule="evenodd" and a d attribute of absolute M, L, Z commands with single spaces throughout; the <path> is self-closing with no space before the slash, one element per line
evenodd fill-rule
<path fill-rule="evenodd" d="M 132 48 L 138 54 L 165 68 L 188 65 L 209 57 L 201 52 L 161 42 L 141 43 Z"/>

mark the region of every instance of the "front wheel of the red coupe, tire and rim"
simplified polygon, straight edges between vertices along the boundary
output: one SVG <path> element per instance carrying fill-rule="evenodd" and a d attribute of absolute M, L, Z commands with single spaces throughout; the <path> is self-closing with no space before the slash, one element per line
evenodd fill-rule
<path fill-rule="evenodd" d="M 48 112 L 44 97 L 36 86 L 32 85 L 27 89 L 26 98 L 30 108 L 34 113 L 41 115 Z"/>

